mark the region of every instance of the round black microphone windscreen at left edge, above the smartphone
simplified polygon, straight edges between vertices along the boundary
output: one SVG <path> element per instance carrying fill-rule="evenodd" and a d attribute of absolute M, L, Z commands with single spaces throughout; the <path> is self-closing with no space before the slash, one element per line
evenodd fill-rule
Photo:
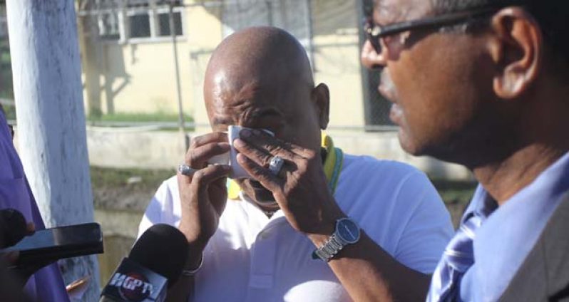
<path fill-rule="evenodd" d="M 0 249 L 17 244 L 27 234 L 26 219 L 16 209 L 0 210 Z"/>

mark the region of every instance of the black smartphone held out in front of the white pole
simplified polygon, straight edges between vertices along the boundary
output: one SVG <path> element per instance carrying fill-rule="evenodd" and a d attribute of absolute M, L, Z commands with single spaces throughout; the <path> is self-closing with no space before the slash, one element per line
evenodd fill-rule
<path fill-rule="evenodd" d="M 103 253 L 103 234 L 97 223 L 41 229 L 0 253 L 19 251 L 16 266 Z"/>

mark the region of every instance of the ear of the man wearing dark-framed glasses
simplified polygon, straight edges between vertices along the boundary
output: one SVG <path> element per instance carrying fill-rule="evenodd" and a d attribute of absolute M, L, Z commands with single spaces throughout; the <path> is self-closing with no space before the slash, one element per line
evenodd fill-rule
<path fill-rule="evenodd" d="M 491 56 L 498 69 L 493 78 L 496 95 L 513 99 L 532 85 L 542 68 L 543 36 L 533 16 L 521 8 L 507 8 L 493 16 L 495 34 Z"/>

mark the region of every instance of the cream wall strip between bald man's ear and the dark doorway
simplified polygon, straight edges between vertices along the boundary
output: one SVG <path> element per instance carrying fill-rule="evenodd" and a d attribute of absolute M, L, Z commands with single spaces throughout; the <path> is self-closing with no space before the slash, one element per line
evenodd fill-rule
<path fill-rule="evenodd" d="M 330 126 L 364 126 L 359 1 L 313 0 L 314 76 L 330 89 Z"/>

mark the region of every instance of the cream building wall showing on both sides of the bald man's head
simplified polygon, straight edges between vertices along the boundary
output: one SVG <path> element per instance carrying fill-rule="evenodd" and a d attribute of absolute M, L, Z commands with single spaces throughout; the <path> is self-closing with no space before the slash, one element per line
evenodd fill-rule
<path fill-rule="evenodd" d="M 311 59 L 315 80 L 329 85 L 331 91 L 331 125 L 363 126 L 358 1 L 311 3 Z M 184 36 L 178 41 L 183 108 L 196 123 L 207 125 L 203 75 L 210 54 L 223 38 L 222 7 L 198 5 L 195 0 L 186 0 L 185 4 Z M 86 41 L 82 51 L 86 102 L 96 104 L 102 113 L 178 112 L 173 50 L 168 38 L 125 44 Z M 91 100 L 100 100 L 100 104 Z M 90 107 L 93 105 L 86 104 Z"/>

